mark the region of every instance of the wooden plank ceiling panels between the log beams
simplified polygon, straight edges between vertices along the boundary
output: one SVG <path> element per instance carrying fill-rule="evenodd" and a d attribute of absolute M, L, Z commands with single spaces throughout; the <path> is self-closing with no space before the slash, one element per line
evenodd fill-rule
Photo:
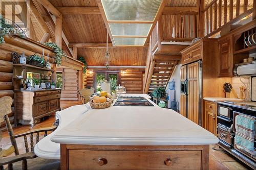
<path fill-rule="evenodd" d="M 35 2 L 36 0 L 32 0 Z M 197 0 L 168 0 L 168 7 L 196 7 Z M 208 5 L 212 0 L 205 0 Z M 223 0 L 224 1 L 224 0 Z M 229 0 L 228 4 L 229 4 Z M 244 0 L 240 0 L 243 4 Z M 58 7 L 97 7 L 96 0 L 49 0 L 56 8 Z M 248 4 L 252 5 L 253 0 Z M 35 3 L 42 16 L 47 13 L 41 5 Z M 236 1 L 234 1 L 234 6 Z M 171 18 L 171 17 L 165 17 Z M 31 15 L 34 32 L 37 40 L 44 35 L 44 31 Z M 169 21 L 166 21 L 169 23 Z M 62 31 L 67 37 L 69 43 L 106 43 L 106 28 L 100 14 L 87 15 L 63 15 Z M 167 29 L 166 29 L 167 30 Z M 165 35 L 165 33 L 164 33 Z M 109 38 L 109 42 L 111 42 Z M 78 48 L 78 56 L 84 57 L 91 66 L 104 65 L 106 48 Z M 111 47 L 111 65 L 145 65 L 147 56 L 147 47 Z"/>

